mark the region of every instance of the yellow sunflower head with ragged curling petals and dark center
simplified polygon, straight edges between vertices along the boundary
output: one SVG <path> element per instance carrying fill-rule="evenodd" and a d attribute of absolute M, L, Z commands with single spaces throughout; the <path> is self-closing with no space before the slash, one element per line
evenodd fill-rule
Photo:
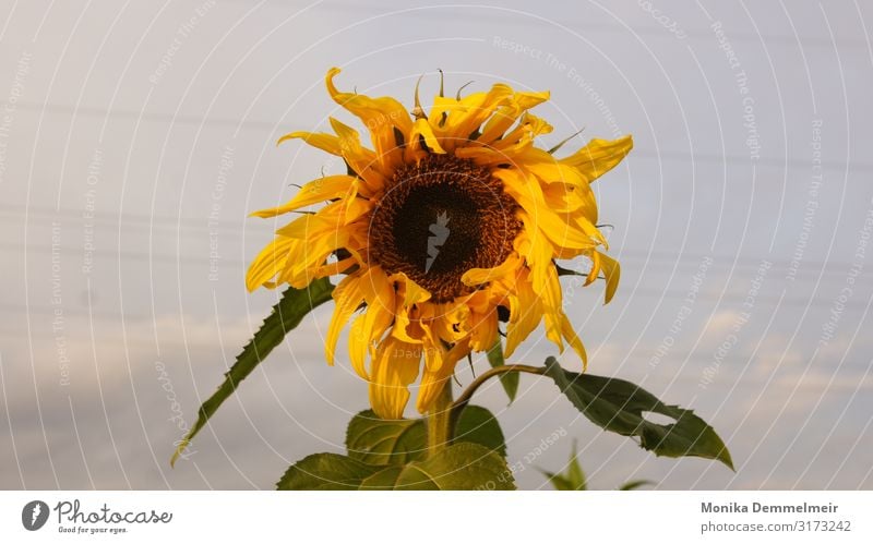
<path fill-rule="evenodd" d="M 600 251 L 608 246 L 590 183 L 627 155 L 631 136 L 593 140 L 559 159 L 554 148 L 535 146 L 552 128 L 529 110 L 548 92 L 504 84 L 463 98 L 441 92 L 426 112 L 416 87 L 410 113 L 391 97 L 338 90 L 338 73 L 327 72 L 327 92 L 363 122 L 372 148 L 333 118 L 334 134 L 279 140 L 342 157 L 348 173 L 311 181 L 288 203 L 252 214 L 325 203 L 276 231 L 249 269 L 248 289 L 302 289 L 345 275 L 333 291 L 326 359 L 334 363 L 354 318 L 349 360 L 384 419 L 403 416 L 419 375 L 416 407 L 427 412 L 458 360 L 495 347 L 501 323 L 504 356 L 545 322 L 546 337 L 562 352 L 566 342 L 587 364 L 562 309 L 555 261 L 588 257 L 586 285 L 602 273 L 606 302 L 612 298 L 619 265 Z"/>

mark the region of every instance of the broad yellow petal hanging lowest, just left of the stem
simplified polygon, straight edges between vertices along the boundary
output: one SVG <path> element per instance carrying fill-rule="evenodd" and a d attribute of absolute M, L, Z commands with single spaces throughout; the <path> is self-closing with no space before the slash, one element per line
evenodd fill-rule
<path fill-rule="evenodd" d="M 418 377 L 421 346 L 388 336 L 376 350 L 370 373 L 370 406 L 384 420 L 399 420 Z"/>

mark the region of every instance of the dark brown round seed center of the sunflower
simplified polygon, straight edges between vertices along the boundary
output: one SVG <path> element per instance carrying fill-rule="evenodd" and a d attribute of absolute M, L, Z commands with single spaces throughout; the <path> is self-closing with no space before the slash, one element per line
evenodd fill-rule
<path fill-rule="evenodd" d="M 470 268 L 503 263 L 522 230 L 516 202 L 488 168 L 452 155 L 429 155 L 392 178 L 370 225 L 370 259 L 405 273 L 446 302 L 469 292 Z"/>

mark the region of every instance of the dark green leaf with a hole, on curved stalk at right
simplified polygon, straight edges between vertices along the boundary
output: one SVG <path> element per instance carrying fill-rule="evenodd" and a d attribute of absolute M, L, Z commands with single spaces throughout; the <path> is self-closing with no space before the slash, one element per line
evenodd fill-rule
<path fill-rule="evenodd" d="M 546 360 L 546 375 L 554 379 L 573 406 L 600 427 L 623 436 L 637 436 L 639 445 L 657 456 L 715 459 L 733 470 L 725 443 L 693 411 L 665 404 L 623 379 L 567 372 L 554 358 Z M 660 413 L 675 421 L 660 425 L 646 420 L 643 412 Z"/>

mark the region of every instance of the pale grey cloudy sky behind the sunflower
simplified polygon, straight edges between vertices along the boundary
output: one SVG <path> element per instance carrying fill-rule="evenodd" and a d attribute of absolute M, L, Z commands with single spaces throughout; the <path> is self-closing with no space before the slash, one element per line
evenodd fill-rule
<path fill-rule="evenodd" d="M 603 306 L 602 282 L 564 280 L 565 310 L 589 372 L 693 408 L 736 472 L 656 458 L 523 376 L 511 406 L 497 382 L 475 399 L 522 488 L 548 488 L 540 470 L 574 444 L 600 489 L 873 488 L 869 5 L 0 0 L 0 488 L 271 488 L 343 451 L 367 387 L 345 355 L 325 364 L 325 305 L 169 466 L 277 297 L 246 290 L 280 226 L 248 214 L 342 168 L 275 146 L 330 116 L 354 124 L 325 92 L 334 65 L 340 88 L 410 109 L 438 70 L 452 94 L 548 89 L 547 148 L 581 129 L 571 144 L 634 136 L 595 184 L 619 291 Z M 549 355 L 540 328 L 513 361 Z"/>

